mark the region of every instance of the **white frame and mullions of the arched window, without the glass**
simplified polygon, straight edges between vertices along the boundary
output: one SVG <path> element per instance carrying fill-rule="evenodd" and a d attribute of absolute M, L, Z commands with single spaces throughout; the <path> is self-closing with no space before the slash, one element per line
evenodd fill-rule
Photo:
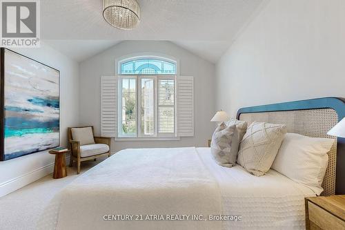
<path fill-rule="evenodd" d="M 121 73 L 121 64 L 128 62 L 128 61 L 133 61 L 133 60 L 138 60 L 138 59 L 157 59 L 157 60 L 162 60 L 162 61 L 168 61 L 170 63 L 174 63 L 176 65 L 176 74 L 175 75 L 168 75 L 168 74 L 148 74 L 148 75 L 143 75 L 143 74 L 122 74 Z M 178 137 L 177 134 L 177 78 L 179 77 L 179 60 L 175 59 L 173 57 L 168 57 L 167 55 L 161 55 L 161 54 L 152 54 L 150 53 L 147 55 L 146 53 L 140 53 L 137 55 L 130 55 L 130 56 L 124 56 L 119 59 L 115 59 L 115 70 L 117 73 L 117 78 L 118 78 L 118 87 L 120 88 L 120 83 L 121 79 L 124 78 L 135 78 L 136 79 L 136 89 L 137 89 L 137 102 L 136 102 L 136 107 L 137 107 L 137 114 L 136 114 L 136 122 L 137 122 L 137 136 L 132 136 L 132 135 L 119 135 L 119 130 L 122 128 L 122 116 L 119 116 L 119 111 L 122 111 L 121 104 L 122 104 L 122 97 L 121 97 L 121 90 L 118 91 L 117 97 L 119 98 L 118 100 L 118 112 L 117 112 L 117 121 L 118 121 L 118 131 L 117 131 L 117 137 L 115 137 L 116 141 L 146 141 L 146 140 L 180 140 L 180 137 Z M 139 106 L 141 106 L 141 99 L 139 99 L 139 95 L 141 96 L 141 88 L 139 87 L 141 85 L 141 79 L 142 78 L 150 78 L 150 77 L 155 77 L 155 135 L 141 135 L 141 114 L 139 117 Z M 174 133 L 160 133 L 158 132 L 158 79 L 174 79 L 175 84 L 174 84 L 174 92 L 175 92 L 175 98 L 174 98 Z M 140 121 L 139 121 L 140 120 Z"/>

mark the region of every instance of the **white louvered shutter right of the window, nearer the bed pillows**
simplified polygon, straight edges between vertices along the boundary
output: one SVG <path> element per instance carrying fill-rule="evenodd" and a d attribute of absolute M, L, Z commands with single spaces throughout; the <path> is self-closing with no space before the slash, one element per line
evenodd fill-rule
<path fill-rule="evenodd" d="M 194 136 L 194 77 L 179 76 L 177 82 L 177 135 Z"/>

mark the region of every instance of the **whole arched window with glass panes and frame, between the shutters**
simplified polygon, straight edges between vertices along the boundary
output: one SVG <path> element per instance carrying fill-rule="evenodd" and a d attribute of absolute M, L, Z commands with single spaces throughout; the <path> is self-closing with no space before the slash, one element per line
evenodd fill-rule
<path fill-rule="evenodd" d="M 177 61 L 141 56 L 118 66 L 118 136 L 176 137 Z"/>

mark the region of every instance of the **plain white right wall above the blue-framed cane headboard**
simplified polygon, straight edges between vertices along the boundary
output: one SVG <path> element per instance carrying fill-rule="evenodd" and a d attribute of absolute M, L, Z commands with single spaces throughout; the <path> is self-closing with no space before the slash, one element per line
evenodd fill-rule
<path fill-rule="evenodd" d="M 345 97 L 345 1 L 273 0 L 217 63 L 217 108 Z"/>

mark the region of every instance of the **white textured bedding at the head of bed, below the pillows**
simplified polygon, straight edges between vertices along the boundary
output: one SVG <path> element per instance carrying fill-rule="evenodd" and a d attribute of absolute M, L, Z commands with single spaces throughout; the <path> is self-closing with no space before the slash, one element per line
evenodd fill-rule
<path fill-rule="evenodd" d="M 197 152 L 219 184 L 223 214 L 242 215 L 242 221 L 222 222 L 222 229 L 305 229 L 304 197 L 315 196 L 307 186 L 273 169 L 256 177 L 238 164 L 221 167 L 209 148 Z"/>

